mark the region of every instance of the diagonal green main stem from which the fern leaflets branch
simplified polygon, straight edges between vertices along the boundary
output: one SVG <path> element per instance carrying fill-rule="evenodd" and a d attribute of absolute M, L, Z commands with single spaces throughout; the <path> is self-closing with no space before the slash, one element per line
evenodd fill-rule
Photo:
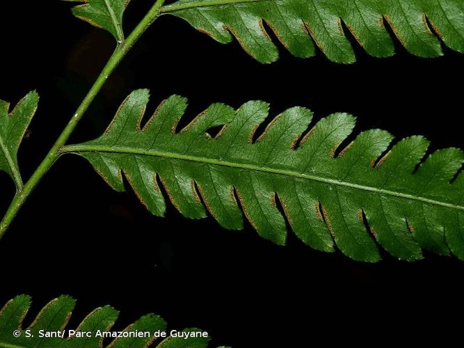
<path fill-rule="evenodd" d="M 122 58 L 124 58 L 127 52 L 129 52 L 129 50 L 134 46 L 138 38 L 140 38 L 141 35 L 145 33 L 148 27 L 154 22 L 154 20 L 157 19 L 157 17 L 160 14 L 160 8 L 161 6 L 163 6 L 164 1 L 165 0 L 157 0 L 157 2 L 154 3 L 153 7 L 150 9 L 147 15 L 143 17 L 143 19 L 136 26 L 134 31 L 132 31 L 132 33 L 127 37 L 125 42 L 118 45 L 118 47 L 115 49 L 115 52 L 109 59 L 108 63 L 106 63 L 102 72 L 99 74 L 97 81 L 95 81 L 95 84 L 93 84 L 92 88 L 90 88 L 90 91 L 82 101 L 77 111 L 72 116 L 70 122 L 67 123 L 65 129 L 63 129 L 63 132 L 60 134 L 60 136 L 58 136 L 58 139 L 49 150 L 47 157 L 45 157 L 45 159 L 42 161 L 42 163 L 40 163 L 33 175 L 29 178 L 26 184 L 24 184 L 22 191 L 16 193 L 16 196 L 15 198 L 13 198 L 10 207 L 8 207 L 5 216 L 3 216 L 3 220 L 0 222 L 0 239 L 5 234 L 5 231 L 8 229 L 8 226 L 10 226 L 11 221 L 13 221 L 13 219 L 19 212 L 19 209 L 21 209 L 22 205 L 24 205 L 26 199 L 29 198 L 29 195 L 31 194 L 33 189 L 37 186 L 40 180 L 42 180 L 42 177 L 45 175 L 45 173 L 47 173 L 47 171 L 49 171 L 56 159 L 58 159 L 58 157 L 60 156 L 61 148 L 63 148 L 67 139 L 69 139 L 70 135 L 74 131 L 74 128 L 76 128 L 79 120 L 81 120 L 83 114 L 86 113 L 88 106 L 90 106 L 90 103 L 93 102 L 93 100 L 99 93 L 99 90 L 102 89 L 102 86 L 105 84 L 106 79 L 108 79 L 111 73 L 122 61 Z"/>

